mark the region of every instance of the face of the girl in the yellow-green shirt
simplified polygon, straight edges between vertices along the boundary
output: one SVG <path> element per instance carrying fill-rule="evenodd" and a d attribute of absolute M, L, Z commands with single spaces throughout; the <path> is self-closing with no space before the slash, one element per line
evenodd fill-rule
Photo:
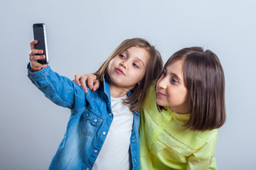
<path fill-rule="evenodd" d="M 164 69 L 156 84 L 156 103 L 169 106 L 175 113 L 188 113 L 188 90 L 184 85 L 183 60 L 177 60 Z"/>

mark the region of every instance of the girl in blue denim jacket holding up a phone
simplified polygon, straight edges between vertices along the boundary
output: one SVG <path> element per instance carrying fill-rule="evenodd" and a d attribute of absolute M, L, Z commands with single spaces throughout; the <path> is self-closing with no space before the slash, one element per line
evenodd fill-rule
<path fill-rule="evenodd" d="M 28 77 L 59 106 L 70 108 L 67 130 L 49 169 L 139 169 L 142 103 L 160 74 L 159 52 L 142 38 L 124 40 L 95 72 L 100 88 L 85 91 L 38 63 L 45 58 L 31 42 Z"/>

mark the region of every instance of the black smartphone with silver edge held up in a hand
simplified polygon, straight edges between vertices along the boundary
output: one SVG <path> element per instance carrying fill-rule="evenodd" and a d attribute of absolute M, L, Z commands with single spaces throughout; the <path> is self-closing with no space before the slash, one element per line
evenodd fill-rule
<path fill-rule="evenodd" d="M 48 49 L 47 49 L 47 40 L 46 40 L 46 25 L 44 23 L 34 23 L 33 24 L 33 35 L 34 40 L 38 40 L 36 44 L 37 50 L 43 50 L 43 55 L 46 56 L 43 60 L 38 60 L 41 64 L 48 64 Z"/>

